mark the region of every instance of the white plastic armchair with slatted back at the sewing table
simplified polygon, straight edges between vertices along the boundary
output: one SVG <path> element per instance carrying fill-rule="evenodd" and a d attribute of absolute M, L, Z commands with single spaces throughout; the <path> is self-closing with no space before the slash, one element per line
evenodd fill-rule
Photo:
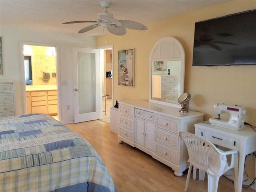
<path fill-rule="evenodd" d="M 193 179 L 195 179 L 196 168 L 199 169 L 199 180 L 204 180 L 205 172 L 207 173 L 208 192 L 217 192 L 220 176 L 222 176 L 227 170 L 234 168 L 234 188 L 235 192 L 238 191 L 237 151 L 229 150 L 222 152 L 210 141 L 188 132 L 180 132 L 179 135 L 186 144 L 189 156 L 188 162 L 190 162 L 185 191 L 188 190 L 188 181 L 190 179 L 192 166 L 194 166 Z M 227 155 L 231 155 L 230 164 L 226 161 Z"/>

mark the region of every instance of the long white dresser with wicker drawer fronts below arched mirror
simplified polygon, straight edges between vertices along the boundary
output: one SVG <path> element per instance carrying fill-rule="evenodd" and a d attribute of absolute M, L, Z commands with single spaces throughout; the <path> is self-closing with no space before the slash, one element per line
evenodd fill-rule
<path fill-rule="evenodd" d="M 194 133 L 194 124 L 203 120 L 203 113 L 142 100 L 119 103 L 118 142 L 126 142 L 156 160 L 170 166 L 176 176 L 188 168 L 188 152 L 178 133 Z"/>

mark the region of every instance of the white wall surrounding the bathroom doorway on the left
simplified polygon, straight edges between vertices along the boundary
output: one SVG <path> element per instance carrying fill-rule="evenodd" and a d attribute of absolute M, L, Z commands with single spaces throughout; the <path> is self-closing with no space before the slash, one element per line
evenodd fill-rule
<path fill-rule="evenodd" d="M 40 44 L 54 44 L 57 46 L 58 66 L 58 93 L 59 115 L 63 123 L 73 122 L 73 63 L 72 47 L 96 48 L 96 38 L 86 37 L 83 34 L 61 34 L 25 28 L 11 28 L 1 26 L 0 36 L 2 37 L 2 58 L 3 74 L 0 80 L 15 81 L 15 102 L 16 114 L 25 114 L 25 84 L 23 84 L 23 60 L 22 42 L 36 42 Z M 62 86 L 61 82 L 66 81 L 67 85 Z M 70 110 L 66 106 L 70 105 Z"/>

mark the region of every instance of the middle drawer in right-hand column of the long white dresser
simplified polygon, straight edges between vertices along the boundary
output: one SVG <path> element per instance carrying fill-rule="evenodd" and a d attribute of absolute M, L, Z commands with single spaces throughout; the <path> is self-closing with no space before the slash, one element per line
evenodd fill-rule
<path fill-rule="evenodd" d="M 179 136 L 160 129 L 156 129 L 156 141 L 177 150 L 179 148 Z"/>

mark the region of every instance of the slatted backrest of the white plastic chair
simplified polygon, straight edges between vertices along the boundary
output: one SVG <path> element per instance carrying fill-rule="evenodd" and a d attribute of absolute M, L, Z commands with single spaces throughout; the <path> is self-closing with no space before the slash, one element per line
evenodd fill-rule
<path fill-rule="evenodd" d="M 190 163 L 196 168 L 207 172 L 210 149 L 218 151 L 216 147 L 208 140 L 188 132 L 180 132 L 179 135 L 186 144 Z"/>

